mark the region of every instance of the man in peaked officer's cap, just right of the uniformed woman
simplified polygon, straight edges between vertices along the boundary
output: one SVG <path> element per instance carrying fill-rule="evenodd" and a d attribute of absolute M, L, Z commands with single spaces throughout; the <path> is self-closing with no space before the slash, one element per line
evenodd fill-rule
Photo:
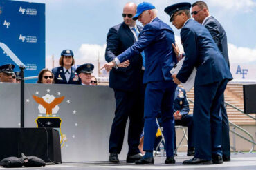
<path fill-rule="evenodd" d="M 94 65 L 91 63 L 86 63 L 77 67 L 77 72 L 79 78 L 81 79 L 81 85 L 91 85 L 91 74 L 93 73 Z"/>

